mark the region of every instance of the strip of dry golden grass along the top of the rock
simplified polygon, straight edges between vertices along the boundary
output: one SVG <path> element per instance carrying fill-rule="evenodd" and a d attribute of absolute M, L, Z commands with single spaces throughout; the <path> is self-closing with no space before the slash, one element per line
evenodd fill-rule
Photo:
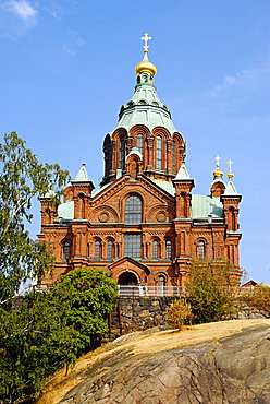
<path fill-rule="evenodd" d="M 116 354 L 119 350 L 130 348 L 128 355 L 151 354 L 160 350 L 197 345 L 205 341 L 219 340 L 235 334 L 243 328 L 260 324 L 270 326 L 270 320 L 250 319 L 219 321 L 186 326 L 182 331 L 168 330 L 154 332 L 152 334 L 149 333 L 147 335 L 142 335 L 142 333 L 137 332 L 135 333 L 137 336 L 133 334 L 134 336 L 132 338 L 123 341 L 121 345 L 115 347 L 113 347 L 112 344 L 105 345 L 95 352 L 84 355 L 77 360 L 75 367 L 68 376 L 65 376 L 64 369 L 60 370 L 44 389 L 44 394 L 36 401 L 36 404 L 58 404 L 71 389 L 84 380 L 79 376 L 84 370 L 105 357 Z"/>

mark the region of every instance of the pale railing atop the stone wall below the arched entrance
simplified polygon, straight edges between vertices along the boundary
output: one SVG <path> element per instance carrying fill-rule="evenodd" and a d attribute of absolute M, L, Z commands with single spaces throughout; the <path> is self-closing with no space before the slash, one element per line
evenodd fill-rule
<path fill-rule="evenodd" d="M 120 297 L 181 296 L 182 286 L 118 285 Z"/>

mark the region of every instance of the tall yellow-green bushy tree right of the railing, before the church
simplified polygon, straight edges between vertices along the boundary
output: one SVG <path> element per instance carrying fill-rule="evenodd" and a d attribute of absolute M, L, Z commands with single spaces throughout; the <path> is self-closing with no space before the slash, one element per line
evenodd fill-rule
<path fill-rule="evenodd" d="M 234 313 L 235 296 L 230 275 L 229 262 L 193 262 L 185 293 L 196 322 L 218 321 Z"/>

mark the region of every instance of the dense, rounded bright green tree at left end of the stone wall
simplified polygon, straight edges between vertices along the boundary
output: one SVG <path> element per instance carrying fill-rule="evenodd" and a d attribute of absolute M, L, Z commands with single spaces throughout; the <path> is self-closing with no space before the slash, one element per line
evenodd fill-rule
<path fill-rule="evenodd" d="M 78 332 L 85 348 L 95 347 L 95 340 L 108 332 L 107 314 L 118 297 L 115 281 L 105 270 L 82 268 L 62 276 L 50 294 L 65 308 L 66 323 Z"/>

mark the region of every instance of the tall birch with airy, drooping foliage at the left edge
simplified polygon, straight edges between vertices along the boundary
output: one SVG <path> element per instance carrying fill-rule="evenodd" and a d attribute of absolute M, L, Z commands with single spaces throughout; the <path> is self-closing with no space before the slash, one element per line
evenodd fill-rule
<path fill-rule="evenodd" d="M 46 246 L 33 240 L 25 228 L 32 222 L 34 197 L 42 197 L 56 187 L 54 198 L 69 173 L 58 164 L 39 163 L 15 132 L 3 134 L 0 143 L 0 305 L 11 298 L 22 282 L 40 280 L 52 259 Z"/>

